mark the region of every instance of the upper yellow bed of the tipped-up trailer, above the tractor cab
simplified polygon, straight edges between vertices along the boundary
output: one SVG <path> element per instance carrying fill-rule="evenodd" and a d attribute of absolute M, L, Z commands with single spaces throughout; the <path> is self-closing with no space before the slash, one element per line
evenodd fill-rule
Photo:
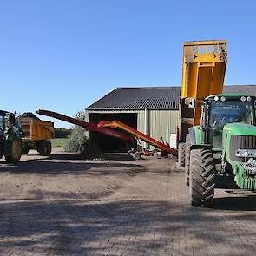
<path fill-rule="evenodd" d="M 194 43 L 196 45 L 183 45 L 181 98 L 201 98 L 221 93 L 227 62 L 226 43 Z"/>

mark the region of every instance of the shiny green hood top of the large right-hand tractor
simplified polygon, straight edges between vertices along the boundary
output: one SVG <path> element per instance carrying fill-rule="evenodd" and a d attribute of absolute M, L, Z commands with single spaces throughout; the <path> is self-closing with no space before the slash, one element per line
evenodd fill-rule
<path fill-rule="evenodd" d="M 256 136 L 256 127 L 242 122 L 226 124 L 223 132 L 227 135 Z"/>

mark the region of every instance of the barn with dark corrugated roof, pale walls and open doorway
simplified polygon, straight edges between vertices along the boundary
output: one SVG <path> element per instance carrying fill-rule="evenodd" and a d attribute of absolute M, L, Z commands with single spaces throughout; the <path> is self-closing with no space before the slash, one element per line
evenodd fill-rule
<path fill-rule="evenodd" d="M 116 88 L 86 108 L 89 122 L 122 121 L 161 141 L 172 144 L 176 132 L 181 87 L 125 87 Z M 256 95 L 255 85 L 225 86 L 224 92 L 246 92 Z M 123 141 L 89 133 L 89 144 L 96 144 L 103 152 L 127 152 L 131 145 Z M 142 142 L 145 148 L 150 145 Z"/>

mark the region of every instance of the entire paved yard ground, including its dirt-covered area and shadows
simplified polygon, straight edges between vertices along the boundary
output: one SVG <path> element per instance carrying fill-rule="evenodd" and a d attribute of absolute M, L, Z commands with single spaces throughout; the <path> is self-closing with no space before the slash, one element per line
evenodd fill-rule
<path fill-rule="evenodd" d="M 175 160 L 0 164 L 0 255 L 255 255 L 256 197 L 190 207 Z"/>

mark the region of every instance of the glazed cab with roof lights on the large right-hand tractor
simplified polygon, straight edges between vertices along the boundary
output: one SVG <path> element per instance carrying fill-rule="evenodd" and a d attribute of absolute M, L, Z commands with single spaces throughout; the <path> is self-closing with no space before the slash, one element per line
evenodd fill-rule
<path fill-rule="evenodd" d="M 240 122 L 255 123 L 255 98 L 248 95 L 211 95 L 202 107 L 201 127 L 204 144 L 213 150 L 222 149 L 222 131 L 226 124 Z"/>

